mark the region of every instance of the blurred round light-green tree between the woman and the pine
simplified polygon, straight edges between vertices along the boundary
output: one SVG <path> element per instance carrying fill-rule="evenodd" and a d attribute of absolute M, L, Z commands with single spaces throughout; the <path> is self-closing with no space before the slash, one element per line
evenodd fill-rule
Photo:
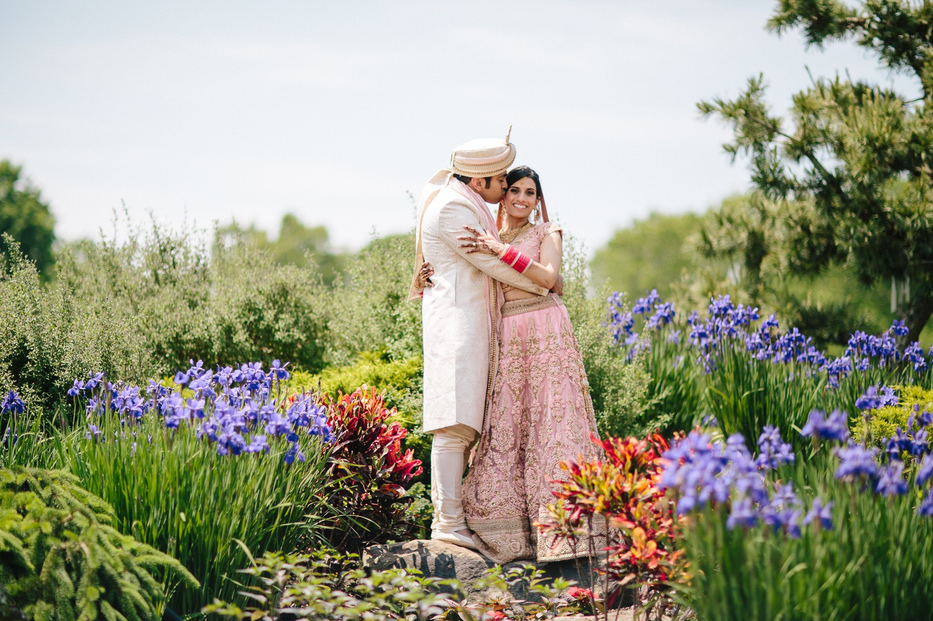
<path fill-rule="evenodd" d="M 593 281 L 607 282 L 613 291 L 625 291 L 632 297 L 650 289 L 668 297 L 670 284 L 684 269 L 693 267 L 684 242 L 700 223 L 697 214 L 650 214 L 635 220 L 631 227 L 617 229 L 593 256 Z"/>

